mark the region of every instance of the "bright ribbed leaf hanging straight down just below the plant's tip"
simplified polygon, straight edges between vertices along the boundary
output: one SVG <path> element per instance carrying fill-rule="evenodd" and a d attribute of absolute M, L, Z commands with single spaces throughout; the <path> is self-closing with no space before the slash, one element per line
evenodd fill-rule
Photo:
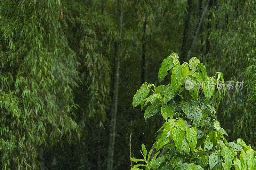
<path fill-rule="evenodd" d="M 172 83 L 172 88 L 174 92 L 176 92 L 176 90 L 180 87 L 182 80 L 183 80 L 182 68 L 180 67 L 180 65 L 173 67 L 172 75 L 171 75 L 171 83 Z"/>

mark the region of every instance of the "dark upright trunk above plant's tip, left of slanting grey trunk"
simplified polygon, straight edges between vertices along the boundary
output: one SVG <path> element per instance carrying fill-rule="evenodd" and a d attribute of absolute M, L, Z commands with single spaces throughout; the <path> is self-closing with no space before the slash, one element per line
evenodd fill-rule
<path fill-rule="evenodd" d="M 187 16 L 184 22 L 184 32 L 183 32 L 183 39 L 182 39 L 180 62 L 184 61 L 187 54 L 188 31 L 189 31 L 189 25 L 190 25 L 191 12 L 192 12 L 192 0 L 188 0 L 188 8 L 187 8 L 187 14 L 186 14 Z"/>

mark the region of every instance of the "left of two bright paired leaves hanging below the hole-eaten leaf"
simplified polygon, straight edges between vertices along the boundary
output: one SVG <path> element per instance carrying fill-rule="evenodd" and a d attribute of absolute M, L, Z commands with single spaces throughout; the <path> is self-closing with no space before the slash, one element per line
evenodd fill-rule
<path fill-rule="evenodd" d="M 183 145 L 183 139 L 184 139 L 185 133 L 184 129 L 181 126 L 174 126 L 172 128 L 172 138 L 175 142 L 175 146 L 177 147 L 178 151 L 181 150 L 181 146 Z"/>

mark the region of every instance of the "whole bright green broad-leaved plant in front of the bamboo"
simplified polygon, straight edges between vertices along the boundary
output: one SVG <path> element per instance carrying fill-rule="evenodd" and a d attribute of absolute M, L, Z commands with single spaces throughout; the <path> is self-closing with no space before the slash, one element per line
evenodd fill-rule
<path fill-rule="evenodd" d="M 148 155 L 142 144 L 143 159 L 131 159 L 136 162 L 132 170 L 143 166 L 145 170 L 255 170 L 256 152 L 242 139 L 228 142 L 227 132 L 216 120 L 215 107 L 226 90 L 223 74 L 209 77 L 196 57 L 182 65 L 178 58 L 172 53 L 163 60 L 158 73 L 161 82 L 170 70 L 170 84 L 156 87 L 145 82 L 133 97 L 133 108 L 140 104 L 142 110 L 151 103 L 145 119 L 160 111 L 165 123 Z"/>

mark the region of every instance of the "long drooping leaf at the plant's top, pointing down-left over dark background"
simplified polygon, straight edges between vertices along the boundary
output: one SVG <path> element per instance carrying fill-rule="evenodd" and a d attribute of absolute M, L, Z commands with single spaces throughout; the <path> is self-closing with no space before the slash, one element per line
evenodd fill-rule
<path fill-rule="evenodd" d="M 162 65 L 158 72 L 159 82 L 161 82 L 164 79 L 164 77 L 168 74 L 167 71 L 172 68 L 173 61 L 174 61 L 174 58 L 171 55 L 163 60 Z"/>

